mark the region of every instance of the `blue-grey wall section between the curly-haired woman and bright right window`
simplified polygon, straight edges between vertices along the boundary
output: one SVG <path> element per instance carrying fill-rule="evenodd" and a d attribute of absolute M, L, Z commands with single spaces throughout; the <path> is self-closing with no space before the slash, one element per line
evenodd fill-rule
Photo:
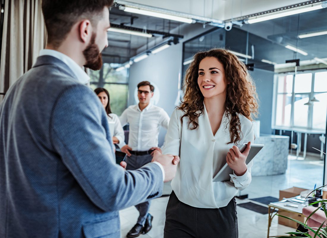
<path fill-rule="evenodd" d="M 274 72 L 255 68 L 253 71 L 250 71 L 250 74 L 255 82 L 259 97 L 259 115 L 257 120 L 260 120 L 260 133 L 272 134 L 271 114 Z"/>

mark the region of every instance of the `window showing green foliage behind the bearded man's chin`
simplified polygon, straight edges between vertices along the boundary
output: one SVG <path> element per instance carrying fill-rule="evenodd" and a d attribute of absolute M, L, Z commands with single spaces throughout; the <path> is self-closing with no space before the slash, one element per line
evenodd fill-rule
<path fill-rule="evenodd" d="M 92 90 L 103 87 L 110 96 L 112 113 L 120 116 L 127 108 L 128 100 L 128 69 L 115 70 L 118 64 L 103 64 L 98 71 L 90 70 L 90 87 Z"/>

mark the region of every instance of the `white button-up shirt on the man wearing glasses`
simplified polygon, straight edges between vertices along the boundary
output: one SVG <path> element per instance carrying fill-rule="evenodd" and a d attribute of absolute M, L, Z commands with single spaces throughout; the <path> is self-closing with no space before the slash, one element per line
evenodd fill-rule
<path fill-rule="evenodd" d="M 122 126 L 129 123 L 128 145 L 133 151 L 148 151 L 158 147 L 160 126 L 167 129 L 169 123 L 168 114 L 151 103 L 143 111 L 138 104 L 129 106 L 119 119 Z"/>

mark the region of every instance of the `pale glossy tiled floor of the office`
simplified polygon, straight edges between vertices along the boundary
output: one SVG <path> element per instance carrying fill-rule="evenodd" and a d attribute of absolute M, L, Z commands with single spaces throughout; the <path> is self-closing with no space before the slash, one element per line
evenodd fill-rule
<path fill-rule="evenodd" d="M 305 176 L 304 176 L 305 175 Z M 279 190 L 292 186 L 313 189 L 314 185 L 322 185 L 323 161 L 314 154 L 307 154 L 305 159 L 295 156 L 288 157 L 288 169 L 285 174 L 275 176 L 253 177 L 250 186 L 242 191 L 249 194 L 249 198 L 273 196 L 279 197 Z M 163 194 L 171 192 L 170 184 L 164 186 Z M 149 233 L 140 235 L 140 238 L 163 238 L 165 209 L 169 197 L 152 200 L 150 213 L 154 216 L 153 228 Z M 237 203 L 248 202 L 248 199 L 239 200 Z M 138 211 L 134 207 L 120 211 L 121 237 L 134 226 Z M 237 207 L 239 238 L 265 238 L 267 237 L 268 215 Z M 277 217 L 273 219 L 270 236 L 283 235 L 284 232 L 294 231 L 294 228 L 279 225 Z"/>

